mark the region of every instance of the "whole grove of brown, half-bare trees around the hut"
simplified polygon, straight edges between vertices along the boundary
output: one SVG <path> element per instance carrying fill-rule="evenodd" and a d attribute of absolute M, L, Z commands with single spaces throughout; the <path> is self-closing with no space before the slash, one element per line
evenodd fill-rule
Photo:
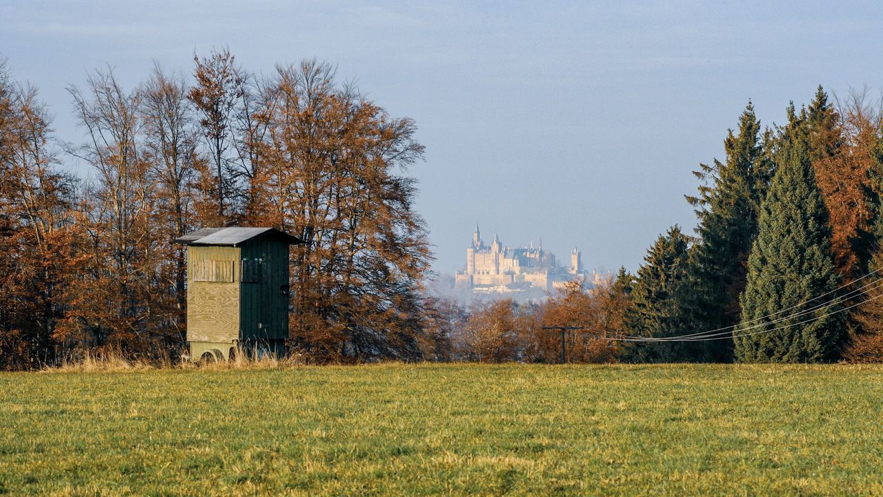
<path fill-rule="evenodd" d="M 194 56 L 190 77 L 155 65 L 124 88 L 108 69 L 68 91 L 79 143 L 0 65 L 0 369 L 95 348 L 176 356 L 186 264 L 171 241 L 204 226 L 307 241 L 292 247 L 292 347 L 420 355 L 432 254 L 406 173 L 424 153 L 412 119 L 331 65 L 260 76 L 229 50 Z"/>

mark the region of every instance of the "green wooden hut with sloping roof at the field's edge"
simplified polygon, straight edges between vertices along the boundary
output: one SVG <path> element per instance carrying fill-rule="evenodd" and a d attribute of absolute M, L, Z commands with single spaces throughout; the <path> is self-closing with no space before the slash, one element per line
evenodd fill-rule
<path fill-rule="evenodd" d="M 284 354 L 288 338 L 289 246 L 275 228 L 203 228 L 187 245 L 187 343 L 193 360 Z"/>

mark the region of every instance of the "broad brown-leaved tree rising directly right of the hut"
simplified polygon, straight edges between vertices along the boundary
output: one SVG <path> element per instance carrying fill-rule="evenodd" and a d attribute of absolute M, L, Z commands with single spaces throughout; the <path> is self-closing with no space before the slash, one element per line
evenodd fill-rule
<path fill-rule="evenodd" d="M 396 119 L 335 80 L 330 65 L 280 66 L 249 143 L 261 199 L 248 222 L 295 233 L 294 343 L 316 356 L 419 356 L 431 254 L 407 166 L 423 157 Z"/>

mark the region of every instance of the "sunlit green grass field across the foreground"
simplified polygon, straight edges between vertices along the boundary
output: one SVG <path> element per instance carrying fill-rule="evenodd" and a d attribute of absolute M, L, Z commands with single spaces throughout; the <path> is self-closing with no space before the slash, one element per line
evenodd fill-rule
<path fill-rule="evenodd" d="M 883 494 L 883 367 L 0 375 L 0 493 Z"/>

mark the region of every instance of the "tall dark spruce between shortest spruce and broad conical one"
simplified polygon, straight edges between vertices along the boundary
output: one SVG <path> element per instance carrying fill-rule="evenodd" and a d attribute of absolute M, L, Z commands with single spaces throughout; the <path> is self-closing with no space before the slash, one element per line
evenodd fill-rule
<path fill-rule="evenodd" d="M 704 181 L 698 196 L 687 196 L 697 208 L 699 242 L 691 257 L 688 294 L 691 333 L 739 323 L 739 294 L 745 285 L 746 261 L 758 231 L 760 203 L 772 178 L 773 163 L 758 141 L 760 123 L 751 102 L 739 119 L 738 132 L 724 140 L 726 161 L 700 164 L 694 174 Z M 732 357 L 731 340 L 706 341 L 712 360 Z"/>

